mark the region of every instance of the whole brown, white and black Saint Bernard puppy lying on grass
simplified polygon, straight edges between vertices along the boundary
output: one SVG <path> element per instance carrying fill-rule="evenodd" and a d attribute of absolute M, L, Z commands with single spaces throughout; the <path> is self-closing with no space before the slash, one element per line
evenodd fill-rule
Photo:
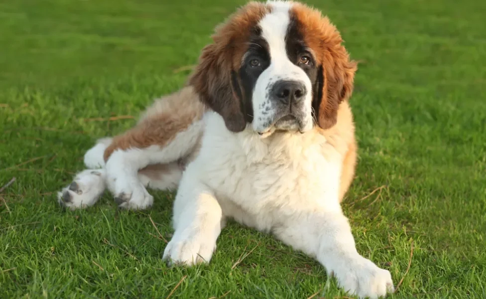
<path fill-rule="evenodd" d="M 212 39 L 187 86 L 86 153 L 59 204 L 92 206 L 108 188 L 121 208 L 146 209 L 147 187 L 177 189 L 169 264 L 209 262 L 233 218 L 316 258 L 351 294 L 393 292 L 340 205 L 357 159 L 357 65 L 336 27 L 298 2 L 249 2 Z"/>

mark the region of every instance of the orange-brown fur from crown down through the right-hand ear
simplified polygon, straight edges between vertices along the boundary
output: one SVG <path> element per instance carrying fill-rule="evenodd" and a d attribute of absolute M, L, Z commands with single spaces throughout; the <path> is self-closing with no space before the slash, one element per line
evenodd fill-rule
<path fill-rule="evenodd" d="M 351 97 L 357 63 L 350 60 L 337 28 L 320 11 L 294 3 L 291 15 L 322 66 L 324 84 L 317 123 L 323 129 L 331 128 L 337 122 L 339 104 Z"/>

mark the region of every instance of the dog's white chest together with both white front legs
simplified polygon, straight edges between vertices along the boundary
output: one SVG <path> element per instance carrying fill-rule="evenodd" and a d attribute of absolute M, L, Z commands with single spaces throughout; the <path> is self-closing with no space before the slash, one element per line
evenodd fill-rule
<path fill-rule="evenodd" d="M 343 156 L 339 134 L 311 130 L 265 139 L 229 132 L 220 116 L 204 117 L 202 147 L 183 174 L 174 201 L 174 236 L 164 250 L 170 263 L 211 260 L 222 220 L 233 217 L 272 232 L 315 257 L 338 283 L 361 298 L 393 291 L 388 271 L 356 250 L 339 205 Z M 326 132 L 325 134 L 327 134 Z"/>

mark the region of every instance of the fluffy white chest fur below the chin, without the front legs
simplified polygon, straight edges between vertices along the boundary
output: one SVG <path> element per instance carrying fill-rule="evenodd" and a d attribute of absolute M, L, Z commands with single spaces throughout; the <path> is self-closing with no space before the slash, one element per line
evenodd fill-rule
<path fill-rule="evenodd" d="M 213 190 L 225 215 L 267 231 L 302 207 L 340 210 L 342 156 L 317 131 L 261 139 L 229 132 L 215 113 L 204 121 L 201 151 L 187 170 Z"/>

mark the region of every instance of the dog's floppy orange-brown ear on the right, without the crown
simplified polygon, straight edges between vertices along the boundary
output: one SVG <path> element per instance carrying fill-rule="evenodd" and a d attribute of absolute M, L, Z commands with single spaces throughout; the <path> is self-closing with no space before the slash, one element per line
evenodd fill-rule
<path fill-rule="evenodd" d="M 348 100 L 353 93 L 356 70 L 357 62 L 350 60 L 343 45 L 325 51 L 313 100 L 315 118 L 322 129 L 336 125 L 339 104 Z"/>

